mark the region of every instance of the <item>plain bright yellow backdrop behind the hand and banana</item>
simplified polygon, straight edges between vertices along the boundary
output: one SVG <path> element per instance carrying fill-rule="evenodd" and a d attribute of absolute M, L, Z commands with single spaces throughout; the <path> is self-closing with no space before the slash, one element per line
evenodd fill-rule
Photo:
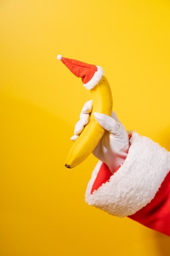
<path fill-rule="evenodd" d="M 170 150 L 170 2 L 0 1 L 0 256 L 168 256 L 170 238 L 84 202 L 68 170 L 90 92 L 57 54 L 101 65 L 129 130 Z"/>

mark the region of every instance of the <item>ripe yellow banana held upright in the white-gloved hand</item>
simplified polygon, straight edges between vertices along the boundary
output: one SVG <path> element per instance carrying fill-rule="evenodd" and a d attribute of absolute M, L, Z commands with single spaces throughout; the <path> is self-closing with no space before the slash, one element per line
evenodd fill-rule
<path fill-rule="evenodd" d="M 57 58 L 61 59 L 59 55 Z M 99 112 L 109 116 L 112 114 L 112 92 L 106 77 L 102 76 L 90 91 L 93 99 L 90 120 L 69 151 L 65 163 L 66 168 L 74 168 L 82 163 L 93 152 L 104 135 L 105 130 L 99 125 L 93 113 Z"/>

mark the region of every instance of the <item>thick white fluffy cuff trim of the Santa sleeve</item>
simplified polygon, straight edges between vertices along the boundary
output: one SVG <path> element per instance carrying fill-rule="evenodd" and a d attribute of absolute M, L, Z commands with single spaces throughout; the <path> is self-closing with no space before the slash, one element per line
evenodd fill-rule
<path fill-rule="evenodd" d="M 89 205 L 113 216 L 125 217 L 146 206 L 170 171 L 170 152 L 151 139 L 132 133 L 124 164 L 91 194 L 91 188 L 102 162 L 98 162 L 86 189 Z"/>

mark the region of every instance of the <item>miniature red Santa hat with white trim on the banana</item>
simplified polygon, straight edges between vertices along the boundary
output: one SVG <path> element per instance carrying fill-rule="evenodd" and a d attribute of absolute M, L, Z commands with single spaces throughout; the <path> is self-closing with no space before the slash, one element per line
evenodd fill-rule
<path fill-rule="evenodd" d="M 93 89 L 104 75 L 104 70 L 100 66 L 64 58 L 60 54 L 57 59 L 62 61 L 75 76 L 81 77 L 84 87 L 88 90 Z"/>

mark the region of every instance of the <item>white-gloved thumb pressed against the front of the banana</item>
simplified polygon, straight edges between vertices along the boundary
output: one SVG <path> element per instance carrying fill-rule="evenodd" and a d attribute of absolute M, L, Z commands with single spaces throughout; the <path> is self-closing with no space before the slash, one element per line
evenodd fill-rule
<path fill-rule="evenodd" d="M 108 115 L 102 114 L 102 113 L 98 113 L 98 112 L 94 112 L 94 116 L 95 119 L 97 120 L 97 122 L 108 132 L 115 134 L 117 133 L 117 130 L 119 129 L 119 124 L 117 123 L 117 121 L 112 118 L 109 117 Z"/>

